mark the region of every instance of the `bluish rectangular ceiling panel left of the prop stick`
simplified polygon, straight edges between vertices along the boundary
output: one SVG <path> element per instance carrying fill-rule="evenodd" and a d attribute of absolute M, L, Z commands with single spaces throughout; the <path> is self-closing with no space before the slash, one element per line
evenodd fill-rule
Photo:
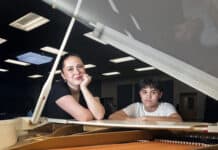
<path fill-rule="evenodd" d="M 33 52 L 27 52 L 17 56 L 20 61 L 28 62 L 35 65 L 41 65 L 52 61 L 52 57 L 40 55 Z"/>

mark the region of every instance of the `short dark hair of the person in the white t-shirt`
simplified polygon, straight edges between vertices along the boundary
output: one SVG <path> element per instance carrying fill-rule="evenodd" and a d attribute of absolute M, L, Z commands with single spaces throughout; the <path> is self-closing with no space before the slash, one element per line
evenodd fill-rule
<path fill-rule="evenodd" d="M 138 86 L 139 86 L 139 90 L 141 90 L 145 87 L 151 87 L 151 88 L 159 90 L 160 92 L 163 91 L 161 83 L 158 80 L 142 79 L 139 81 Z"/>

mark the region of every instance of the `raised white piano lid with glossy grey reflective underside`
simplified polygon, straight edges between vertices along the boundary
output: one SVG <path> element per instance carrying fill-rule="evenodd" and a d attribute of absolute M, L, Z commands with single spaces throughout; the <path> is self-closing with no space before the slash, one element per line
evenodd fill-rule
<path fill-rule="evenodd" d="M 77 2 L 43 1 L 69 16 Z M 218 100 L 216 12 L 215 0 L 83 0 L 77 19 L 94 24 L 100 40 Z"/>

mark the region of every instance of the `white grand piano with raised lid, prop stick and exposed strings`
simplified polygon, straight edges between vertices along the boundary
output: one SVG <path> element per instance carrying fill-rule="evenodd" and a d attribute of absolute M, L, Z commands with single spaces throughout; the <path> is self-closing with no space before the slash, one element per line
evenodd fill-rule
<path fill-rule="evenodd" d="M 216 59 L 217 55 L 215 54 L 217 53 L 214 52 L 214 49 L 218 47 L 218 21 L 214 17 L 214 15 L 217 16 L 218 3 L 215 0 L 207 2 L 196 2 L 195 0 L 181 2 L 172 0 L 161 2 L 149 0 L 143 2 L 125 0 L 43 1 L 45 5 L 47 3 L 53 9 L 61 10 L 71 16 L 72 20 L 76 19 L 91 28 L 93 31 L 90 34 L 98 41 L 103 41 L 134 56 L 214 100 L 218 100 L 218 72 L 210 67 L 217 64 L 216 61 L 212 61 Z M 151 14 L 153 4 L 156 7 L 153 8 L 155 10 Z M 198 4 L 197 7 L 194 7 L 194 4 Z M 154 37 L 149 39 L 149 28 L 159 29 L 162 26 L 165 30 L 172 30 L 172 26 L 168 27 L 168 22 L 171 21 L 169 18 L 176 17 L 178 14 L 161 14 L 165 10 L 163 8 L 168 8 L 168 6 L 174 6 L 173 8 L 177 11 L 183 11 L 186 19 L 173 29 L 175 35 L 168 35 L 167 31 L 157 30 L 153 34 Z M 158 18 L 155 20 L 156 24 L 149 23 L 151 21 L 149 15 Z M 161 17 L 158 17 L 159 15 Z M 137 19 L 140 21 L 138 22 Z M 129 23 L 130 20 L 131 23 Z M 201 26 L 198 26 L 199 20 Z M 180 21 L 177 20 L 177 22 Z M 197 24 L 195 25 L 195 23 Z M 148 28 L 145 29 L 145 26 Z M 73 27 L 72 22 L 71 27 Z M 193 29 L 189 29 L 189 27 Z M 70 25 L 68 29 L 71 30 Z M 152 31 L 154 32 L 154 30 Z M 175 38 L 175 43 L 166 44 L 172 39 L 167 41 L 165 36 Z M 192 44 L 194 45 L 196 42 L 193 40 L 196 38 L 195 36 L 200 36 L 198 42 L 203 48 L 192 47 Z M 65 37 L 67 40 L 67 34 Z M 157 39 L 156 42 L 149 43 L 152 38 Z M 188 46 L 182 44 L 187 42 Z M 64 47 L 63 42 L 60 51 Z M 176 49 L 176 51 L 172 49 Z M 204 51 L 205 49 L 211 51 Z M 59 58 L 60 56 L 61 53 Z M 1 148 L 17 150 L 218 149 L 217 123 L 111 120 L 79 122 L 41 117 L 44 99 L 49 93 L 49 84 L 53 80 L 52 74 L 57 68 L 59 58 L 56 58 L 52 67 L 48 77 L 49 82 L 45 83 L 45 88 L 41 91 L 33 116 L 0 121 Z M 202 61 L 202 58 L 208 61 Z"/>

